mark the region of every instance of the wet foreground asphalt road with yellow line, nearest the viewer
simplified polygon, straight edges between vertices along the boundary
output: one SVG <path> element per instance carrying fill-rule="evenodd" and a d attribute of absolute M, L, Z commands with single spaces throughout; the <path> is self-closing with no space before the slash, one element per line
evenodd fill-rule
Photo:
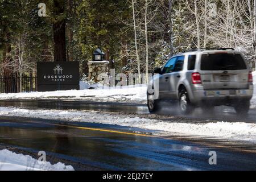
<path fill-rule="evenodd" d="M 256 170 L 256 153 L 131 133 L 129 127 L 0 118 L 0 145 L 108 170 Z M 209 151 L 217 165 L 209 165 Z M 49 159 L 49 157 L 47 158 Z M 67 163 L 69 164 L 69 163 Z M 81 169 L 81 168 L 80 168 Z"/>

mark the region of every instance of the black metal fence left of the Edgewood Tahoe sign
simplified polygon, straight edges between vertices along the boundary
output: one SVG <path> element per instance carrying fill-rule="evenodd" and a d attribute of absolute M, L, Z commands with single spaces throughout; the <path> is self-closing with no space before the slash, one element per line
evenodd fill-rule
<path fill-rule="evenodd" d="M 35 92 L 36 77 L 0 77 L 0 93 Z"/>

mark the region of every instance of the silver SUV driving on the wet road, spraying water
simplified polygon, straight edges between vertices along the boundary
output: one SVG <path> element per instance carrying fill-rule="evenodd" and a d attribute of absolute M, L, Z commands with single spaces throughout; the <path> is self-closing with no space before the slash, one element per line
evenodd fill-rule
<path fill-rule="evenodd" d="M 148 109 L 159 109 L 160 100 L 178 100 L 182 113 L 195 107 L 233 106 L 246 114 L 253 96 L 253 76 L 241 52 L 233 48 L 188 51 L 172 56 L 155 68 L 147 89 Z"/>

